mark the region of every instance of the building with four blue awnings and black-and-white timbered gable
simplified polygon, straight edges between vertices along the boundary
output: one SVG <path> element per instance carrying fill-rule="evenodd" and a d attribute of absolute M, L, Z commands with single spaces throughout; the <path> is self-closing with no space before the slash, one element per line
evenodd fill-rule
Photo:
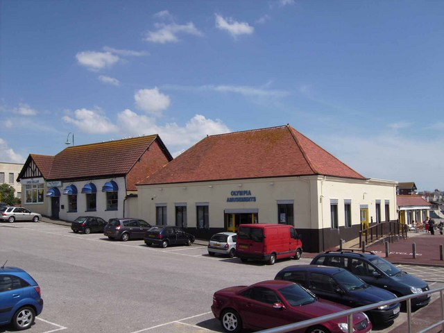
<path fill-rule="evenodd" d="M 55 156 L 30 154 L 17 180 L 33 212 L 74 221 L 127 216 L 136 184 L 173 160 L 158 135 L 70 146 Z M 137 211 L 137 209 L 135 209 Z"/>

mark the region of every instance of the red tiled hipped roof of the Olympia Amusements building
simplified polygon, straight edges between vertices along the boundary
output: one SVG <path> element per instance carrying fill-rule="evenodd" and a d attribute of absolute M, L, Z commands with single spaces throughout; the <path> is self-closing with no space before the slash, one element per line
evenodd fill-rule
<path fill-rule="evenodd" d="M 325 175 L 366 179 L 291 126 L 211 135 L 139 185 Z"/>

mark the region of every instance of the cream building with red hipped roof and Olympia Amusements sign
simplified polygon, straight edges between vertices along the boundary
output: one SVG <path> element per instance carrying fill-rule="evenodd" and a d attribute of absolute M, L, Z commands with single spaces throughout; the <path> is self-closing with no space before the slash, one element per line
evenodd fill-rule
<path fill-rule="evenodd" d="M 137 185 L 139 215 L 209 239 L 240 223 L 295 225 L 318 252 L 396 219 L 397 182 L 366 178 L 291 126 L 211 135 Z"/>

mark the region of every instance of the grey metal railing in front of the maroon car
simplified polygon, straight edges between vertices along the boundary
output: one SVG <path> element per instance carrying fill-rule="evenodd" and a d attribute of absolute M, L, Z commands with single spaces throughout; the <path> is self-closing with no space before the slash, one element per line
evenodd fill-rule
<path fill-rule="evenodd" d="M 309 319 L 308 321 L 300 321 L 299 323 L 293 323 L 293 324 L 284 325 L 284 326 L 280 326 L 280 327 L 274 327 L 274 328 L 271 328 L 268 330 L 262 330 L 259 332 L 261 332 L 261 333 L 285 333 L 285 332 L 290 332 L 293 330 L 298 330 L 300 328 L 311 327 L 313 325 L 325 323 L 326 321 L 331 321 L 336 318 L 341 318 L 341 317 L 347 316 L 348 333 L 352 333 L 353 332 L 353 325 L 352 325 L 353 314 L 356 314 L 357 312 L 364 312 L 364 311 L 368 311 L 371 309 L 375 309 L 377 307 L 382 307 L 382 305 L 389 305 L 389 304 L 393 304 L 393 303 L 397 303 L 397 302 L 403 302 L 405 300 L 405 301 L 407 301 L 407 325 L 408 325 L 407 332 L 412 333 L 411 332 L 411 299 L 417 298 L 418 296 L 424 296 L 424 295 L 432 294 L 432 293 L 440 293 L 441 321 L 437 321 L 436 323 L 433 323 L 429 327 L 425 327 L 424 329 L 420 330 L 417 333 L 425 333 L 425 332 L 428 332 L 429 330 L 433 330 L 434 328 L 439 327 L 439 326 L 441 326 L 441 332 L 444 332 L 444 287 L 429 290 L 429 291 L 424 291 L 422 293 L 415 293 L 415 294 L 408 295 L 408 296 L 402 296 L 399 298 L 393 298 L 393 300 L 385 300 L 384 302 L 377 302 L 375 304 L 365 305 L 364 307 L 355 307 L 354 309 L 337 312 L 336 314 L 329 314 L 327 316 Z M 281 310 L 281 311 L 285 311 L 285 310 Z"/>

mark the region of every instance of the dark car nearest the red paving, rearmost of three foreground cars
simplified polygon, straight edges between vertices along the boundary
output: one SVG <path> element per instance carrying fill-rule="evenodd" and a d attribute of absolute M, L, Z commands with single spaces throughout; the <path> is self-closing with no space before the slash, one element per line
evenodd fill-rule
<path fill-rule="evenodd" d="M 327 251 L 314 257 L 311 264 L 345 268 L 364 282 L 391 291 L 399 297 L 429 290 L 427 282 L 401 271 L 374 253 Z M 411 305 L 425 307 L 429 302 L 430 294 L 413 298 Z"/>

